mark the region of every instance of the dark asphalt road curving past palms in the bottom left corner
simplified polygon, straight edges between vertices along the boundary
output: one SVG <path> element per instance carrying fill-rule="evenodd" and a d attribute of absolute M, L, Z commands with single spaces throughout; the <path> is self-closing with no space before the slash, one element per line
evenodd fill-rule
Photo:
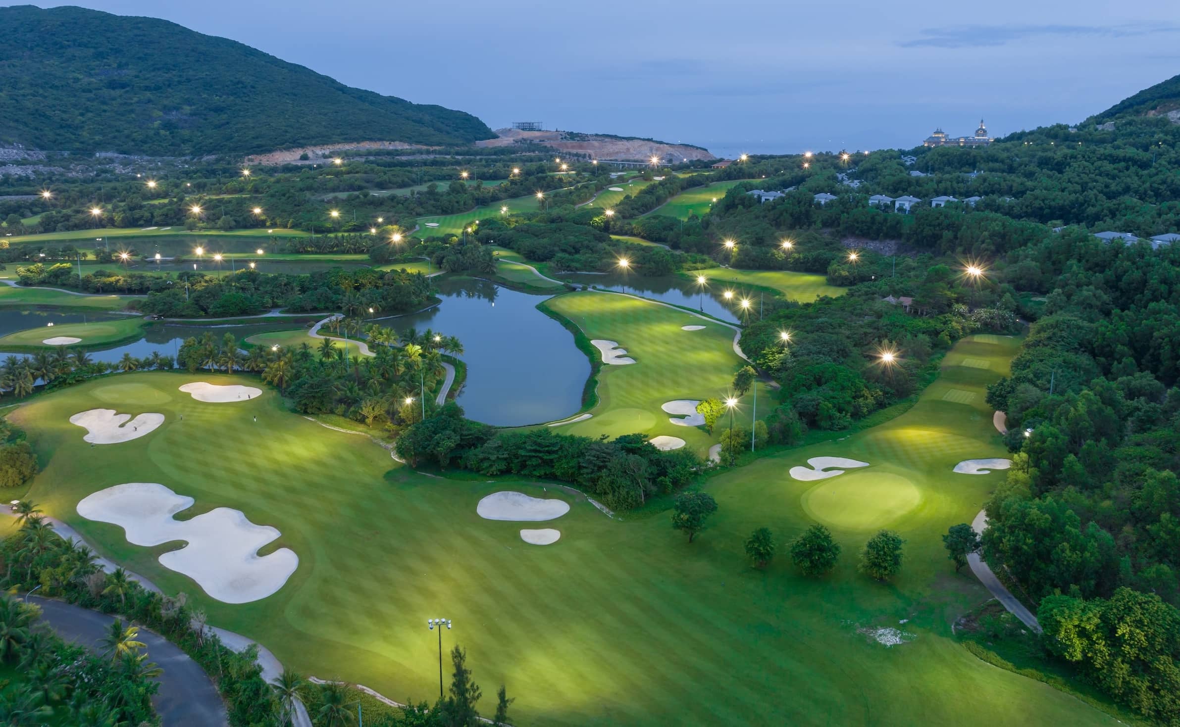
<path fill-rule="evenodd" d="M 96 651 L 113 616 L 80 605 L 33 596 L 41 607 L 41 621 L 53 627 L 66 641 L 76 641 Z M 225 727 L 225 705 L 209 675 L 179 647 L 148 629 L 139 629 L 139 641 L 148 644 L 148 659 L 159 664 L 164 674 L 157 677 L 159 692 L 152 705 L 164 727 Z"/>

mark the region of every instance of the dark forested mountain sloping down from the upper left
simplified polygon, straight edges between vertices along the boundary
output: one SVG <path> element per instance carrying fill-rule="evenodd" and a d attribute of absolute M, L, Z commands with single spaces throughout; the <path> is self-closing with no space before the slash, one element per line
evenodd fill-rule
<path fill-rule="evenodd" d="M 442 106 L 353 89 L 247 45 L 155 18 L 0 8 L 0 140 L 158 156 L 496 135 Z"/>

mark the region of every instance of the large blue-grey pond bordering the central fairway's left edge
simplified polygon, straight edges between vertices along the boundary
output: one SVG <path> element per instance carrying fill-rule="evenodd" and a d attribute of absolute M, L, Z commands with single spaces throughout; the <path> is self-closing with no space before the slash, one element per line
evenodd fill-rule
<path fill-rule="evenodd" d="M 459 338 L 467 381 L 455 401 L 468 419 L 522 426 L 581 408 L 590 361 L 573 334 L 537 310 L 549 296 L 474 279 L 441 280 L 438 287 L 441 304 L 378 322 L 398 332 L 431 328 Z"/>

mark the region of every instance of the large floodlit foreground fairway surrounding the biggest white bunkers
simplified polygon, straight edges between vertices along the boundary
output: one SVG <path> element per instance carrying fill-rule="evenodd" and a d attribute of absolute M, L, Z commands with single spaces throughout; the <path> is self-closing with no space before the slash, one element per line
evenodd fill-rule
<path fill-rule="evenodd" d="M 650 355 L 642 341 L 631 351 Z M 950 469 L 1003 454 L 983 388 L 1014 353 L 1008 339 L 965 341 L 910 413 L 710 480 L 719 510 L 693 544 L 671 529 L 667 509 L 610 519 L 552 486 L 417 474 L 365 437 L 288 412 L 269 387 L 229 404 L 177 391 L 189 381 L 257 385 L 255 378 L 105 378 L 38 397 L 9 418 L 41 457 L 30 497 L 47 513 L 165 591 L 190 594 L 211 624 L 260 640 L 304 674 L 399 700 L 433 699 L 438 647 L 425 618 L 445 616 L 454 628 L 442 634 L 444 648 L 467 649 L 485 693 L 507 685 L 519 725 L 1109 725 L 951 637 L 953 620 L 989 596 L 953 574 L 939 536 L 969 520 L 1003 474 Z M 955 356 L 992 367 L 956 366 Z M 975 394 L 974 404 L 944 399 L 952 389 Z M 165 423 L 139 439 L 91 447 L 67 421 L 112 406 L 159 412 Z M 750 568 L 743 541 L 754 529 L 768 526 L 786 542 L 813 522 L 801 498 L 819 483 L 793 480 L 787 469 L 820 454 L 870 461 L 868 472 L 909 480 L 920 502 L 881 522 L 833 525 L 844 555 L 826 577 L 799 575 L 789 558 Z M 77 515 L 81 497 L 125 482 L 194 497 L 182 517 L 225 506 L 275 526 L 282 536 L 263 552 L 290 548 L 299 569 L 263 601 L 212 601 L 157 562 L 176 544 L 131 545 L 120 528 Z M 544 525 L 559 529 L 560 541 L 526 545 L 518 531 L 531 525 L 479 518 L 479 499 L 499 490 L 571 502 L 568 515 Z M 847 506 L 861 503 L 851 497 Z M 907 541 L 902 574 L 887 585 L 857 574 L 852 555 L 880 526 Z M 868 627 L 913 638 L 886 648 L 857 631 Z"/>

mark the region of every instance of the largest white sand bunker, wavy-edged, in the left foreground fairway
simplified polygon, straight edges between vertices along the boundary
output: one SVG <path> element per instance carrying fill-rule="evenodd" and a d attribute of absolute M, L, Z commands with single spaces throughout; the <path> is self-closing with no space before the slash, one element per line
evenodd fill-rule
<path fill-rule="evenodd" d="M 127 542 L 136 545 L 185 541 L 184 548 L 162 555 L 160 564 L 189 576 L 225 603 L 266 598 L 295 572 L 299 556 L 288 548 L 258 556 L 258 549 L 281 533 L 269 525 L 255 525 L 241 510 L 217 507 L 189 520 L 172 517 L 192 502 L 164 485 L 127 483 L 83 498 L 78 515 L 122 526 Z"/>

